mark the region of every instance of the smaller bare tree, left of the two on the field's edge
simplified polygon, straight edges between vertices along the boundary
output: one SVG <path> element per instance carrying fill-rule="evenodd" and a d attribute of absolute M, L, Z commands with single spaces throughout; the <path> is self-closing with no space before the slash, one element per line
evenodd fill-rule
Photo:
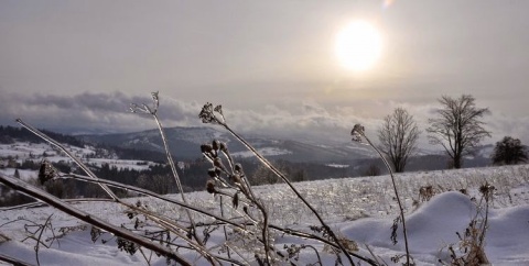
<path fill-rule="evenodd" d="M 392 114 L 384 119 L 382 126 L 378 129 L 379 148 L 389 158 L 396 173 L 404 170 L 420 133 L 413 115 L 403 108 L 395 109 Z"/>

